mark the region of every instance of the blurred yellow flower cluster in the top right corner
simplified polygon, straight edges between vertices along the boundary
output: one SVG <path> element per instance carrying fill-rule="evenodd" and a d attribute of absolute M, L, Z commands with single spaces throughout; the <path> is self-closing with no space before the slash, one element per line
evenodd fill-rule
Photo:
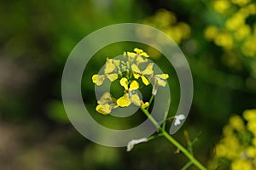
<path fill-rule="evenodd" d="M 252 0 L 212 1 L 223 25 L 207 26 L 205 37 L 224 50 L 239 49 L 247 57 L 256 56 L 256 3 Z"/>

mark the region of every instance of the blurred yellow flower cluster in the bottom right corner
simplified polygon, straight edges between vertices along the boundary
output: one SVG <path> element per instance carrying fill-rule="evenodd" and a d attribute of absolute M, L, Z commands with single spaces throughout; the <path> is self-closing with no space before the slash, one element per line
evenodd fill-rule
<path fill-rule="evenodd" d="M 224 127 L 224 138 L 216 146 L 216 155 L 230 162 L 230 169 L 256 168 L 256 110 L 230 117 Z"/>

